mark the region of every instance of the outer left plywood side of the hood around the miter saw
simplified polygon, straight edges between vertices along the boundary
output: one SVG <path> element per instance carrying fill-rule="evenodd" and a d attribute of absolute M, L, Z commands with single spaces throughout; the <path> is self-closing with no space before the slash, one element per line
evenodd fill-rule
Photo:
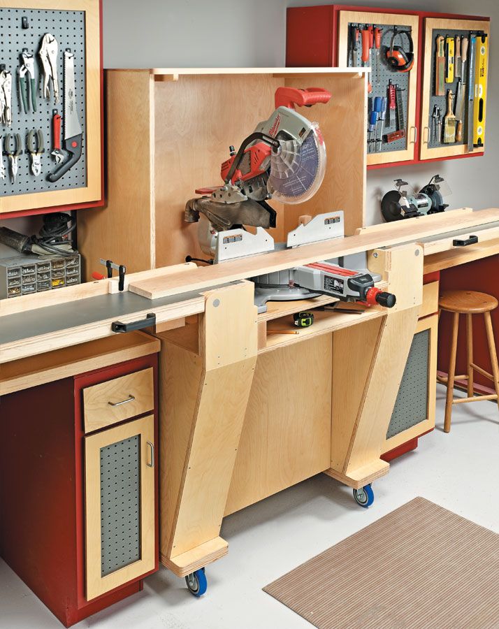
<path fill-rule="evenodd" d="M 105 272 L 100 258 L 124 264 L 127 273 L 154 268 L 151 108 L 149 71 L 106 72 L 108 203 L 78 212 L 87 280 L 94 270 Z"/>

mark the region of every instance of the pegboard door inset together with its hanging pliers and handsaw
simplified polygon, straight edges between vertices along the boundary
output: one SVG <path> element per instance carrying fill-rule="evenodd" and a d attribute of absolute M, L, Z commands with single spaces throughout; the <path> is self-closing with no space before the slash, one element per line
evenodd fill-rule
<path fill-rule="evenodd" d="M 85 11 L 0 8 L 0 25 L 2 196 L 85 187 Z"/>

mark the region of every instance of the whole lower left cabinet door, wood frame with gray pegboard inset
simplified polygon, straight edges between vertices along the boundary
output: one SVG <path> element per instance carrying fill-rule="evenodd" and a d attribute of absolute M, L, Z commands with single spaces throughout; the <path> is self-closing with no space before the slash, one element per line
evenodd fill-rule
<path fill-rule="evenodd" d="M 85 438 L 86 595 L 154 569 L 154 416 Z"/>

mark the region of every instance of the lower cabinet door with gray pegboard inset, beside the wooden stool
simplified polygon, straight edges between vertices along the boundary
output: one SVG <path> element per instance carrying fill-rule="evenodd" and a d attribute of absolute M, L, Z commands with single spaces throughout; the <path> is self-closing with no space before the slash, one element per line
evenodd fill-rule
<path fill-rule="evenodd" d="M 419 319 L 383 452 L 435 427 L 438 315 Z"/>

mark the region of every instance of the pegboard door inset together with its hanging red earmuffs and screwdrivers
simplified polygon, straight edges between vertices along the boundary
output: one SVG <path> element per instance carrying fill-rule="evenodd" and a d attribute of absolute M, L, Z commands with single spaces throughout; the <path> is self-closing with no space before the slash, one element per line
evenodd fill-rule
<path fill-rule="evenodd" d="M 407 148 L 410 72 L 414 64 L 411 27 L 349 23 L 350 67 L 370 67 L 368 153 Z"/>

